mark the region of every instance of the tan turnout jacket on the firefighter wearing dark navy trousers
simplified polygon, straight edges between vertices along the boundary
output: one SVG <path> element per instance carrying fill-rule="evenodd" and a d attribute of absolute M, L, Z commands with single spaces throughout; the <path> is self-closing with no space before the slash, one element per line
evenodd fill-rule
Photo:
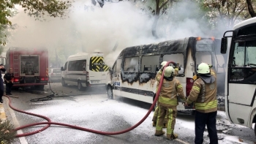
<path fill-rule="evenodd" d="M 193 83 L 192 90 L 187 97 L 187 104 L 195 102 L 195 110 L 200 113 L 211 113 L 217 111 L 217 77 L 211 69 L 210 77 L 197 77 Z"/>

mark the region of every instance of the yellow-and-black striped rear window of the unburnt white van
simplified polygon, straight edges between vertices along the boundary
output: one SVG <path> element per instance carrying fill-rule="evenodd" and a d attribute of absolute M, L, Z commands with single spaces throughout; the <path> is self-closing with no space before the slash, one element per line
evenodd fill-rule
<path fill-rule="evenodd" d="M 102 56 L 92 56 L 90 58 L 89 69 L 94 72 L 107 72 L 109 67 L 105 65 Z"/>

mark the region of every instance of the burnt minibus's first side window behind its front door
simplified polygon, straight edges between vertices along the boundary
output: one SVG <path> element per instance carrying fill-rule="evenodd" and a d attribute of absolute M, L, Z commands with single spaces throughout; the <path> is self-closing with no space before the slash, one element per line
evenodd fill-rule
<path fill-rule="evenodd" d="M 124 72 L 138 72 L 139 57 L 124 59 Z"/>

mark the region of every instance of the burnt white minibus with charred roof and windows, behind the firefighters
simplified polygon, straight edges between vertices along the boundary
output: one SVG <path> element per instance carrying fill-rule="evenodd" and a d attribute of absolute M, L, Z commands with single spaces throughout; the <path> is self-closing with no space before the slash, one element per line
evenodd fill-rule
<path fill-rule="evenodd" d="M 193 85 L 193 76 L 197 74 L 197 65 L 202 61 L 212 64 L 217 71 L 219 107 L 225 107 L 225 64 L 227 58 L 219 53 L 220 39 L 187 37 L 157 44 L 138 45 L 121 51 L 110 69 L 108 98 L 123 96 L 142 102 L 153 103 L 156 96 L 157 81 L 155 77 L 162 61 L 174 61 L 180 64 L 176 78 L 189 96 Z M 223 80 L 223 81 L 222 81 Z M 184 107 L 178 102 L 178 111 L 192 114 L 193 106 Z"/>

